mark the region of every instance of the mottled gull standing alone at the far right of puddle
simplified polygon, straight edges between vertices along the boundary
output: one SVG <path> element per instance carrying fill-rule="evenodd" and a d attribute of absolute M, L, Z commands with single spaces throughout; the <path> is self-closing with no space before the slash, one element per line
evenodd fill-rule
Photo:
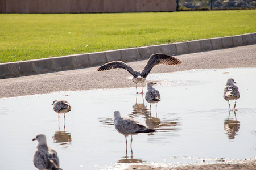
<path fill-rule="evenodd" d="M 227 100 L 229 102 L 229 100 L 235 100 L 235 104 L 234 104 L 234 108 L 236 108 L 236 104 L 237 104 L 237 99 L 240 98 L 240 94 L 238 91 L 238 87 L 236 85 L 234 85 L 234 79 L 230 78 L 228 79 L 228 81 L 226 82 L 226 86 L 224 88 L 224 99 Z M 229 104 L 229 110 L 230 109 L 230 104 Z"/>

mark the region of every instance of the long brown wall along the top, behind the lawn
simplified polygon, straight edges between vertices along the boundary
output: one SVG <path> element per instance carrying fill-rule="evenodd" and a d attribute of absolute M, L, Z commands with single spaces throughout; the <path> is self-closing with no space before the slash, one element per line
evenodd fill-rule
<path fill-rule="evenodd" d="M 0 13 L 176 11 L 176 0 L 0 0 Z"/>

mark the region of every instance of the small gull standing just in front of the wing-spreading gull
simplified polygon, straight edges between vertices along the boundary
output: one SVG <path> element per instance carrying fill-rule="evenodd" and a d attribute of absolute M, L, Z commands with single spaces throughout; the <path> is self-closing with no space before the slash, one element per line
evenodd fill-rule
<path fill-rule="evenodd" d="M 158 90 L 155 90 L 154 82 L 147 82 L 147 92 L 145 99 L 150 104 L 150 111 L 151 111 L 151 103 L 155 103 L 155 111 L 156 111 L 156 105 L 158 101 L 161 101 L 161 96 Z"/>

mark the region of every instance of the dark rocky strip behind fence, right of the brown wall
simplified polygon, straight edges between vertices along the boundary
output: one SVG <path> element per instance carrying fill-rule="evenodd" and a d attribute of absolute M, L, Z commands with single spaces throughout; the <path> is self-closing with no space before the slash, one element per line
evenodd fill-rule
<path fill-rule="evenodd" d="M 178 10 L 255 9 L 255 0 L 177 0 Z"/>

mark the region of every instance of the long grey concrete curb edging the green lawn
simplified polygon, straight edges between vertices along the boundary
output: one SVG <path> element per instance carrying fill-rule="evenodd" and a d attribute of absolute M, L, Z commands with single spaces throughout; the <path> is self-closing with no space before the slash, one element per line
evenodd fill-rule
<path fill-rule="evenodd" d="M 50 71 L 78 69 L 102 65 L 115 60 L 128 62 L 138 59 L 148 59 L 152 54 L 155 53 L 164 53 L 174 56 L 250 44 L 256 44 L 256 32 L 214 39 L 177 42 L 174 44 L 153 45 L 97 53 L 33 59 L 21 62 L 0 63 L 0 78 L 47 73 Z"/>

